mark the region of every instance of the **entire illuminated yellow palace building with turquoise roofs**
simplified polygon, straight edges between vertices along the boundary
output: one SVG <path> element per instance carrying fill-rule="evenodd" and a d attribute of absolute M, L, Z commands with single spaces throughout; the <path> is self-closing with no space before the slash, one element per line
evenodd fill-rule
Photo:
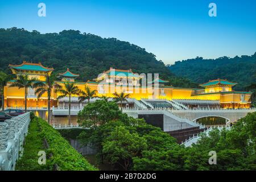
<path fill-rule="evenodd" d="M 20 65 L 10 65 L 11 71 L 15 75 L 28 74 L 30 77 L 36 77 L 40 81 L 46 80 L 46 75 L 50 75 L 53 68 L 46 68 L 38 63 L 23 62 Z M 166 86 L 168 81 L 160 78 L 151 80 L 144 85 L 145 76 L 133 73 L 131 69 L 121 70 L 110 68 L 108 71 L 101 73 L 93 81 L 77 82 L 76 75 L 67 69 L 66 72 L 60 73 L 61 80 L 57 81 L 63 85 L 65 81 L 75 82 L 79 89 L 84 90 L 85 86 L 89 86 L 92 90 L 97 90 L 97 96 L 113 97 L 114 92 L 125 92 L 130 94 L 130 98 L 141 100 L 146 99 L 166 99 L 166 100 L 201 100 L 201 101 L 218 101 L 220 107 L 223 108 L 249 108 L 251 92 L 238 92 L 233 90 L 233 86 L 237 83 L 227 80 L 212 80 L 205 84 L 201 84 L 204 89 L 193 88 L 177 88 L 174 86 Z M 11 88 L 9 85 L 5 87 L 5 106 L 7 107 L 24 107 L 24 89 Z M 152 86 L 151 86 L 152 85 Z M 47 107 L 47 94 L 40 99 L 35 95 L 34 89 L 27 91 L 28 107 Z M 51 93 L 51 106 L 63 106 L 62 101 L 57 101 L 58 94 Z M 77 96 L 73 98 L 74 103 L 77 102 Z M 77 105 L 78 102 L 77 102 Z"/>

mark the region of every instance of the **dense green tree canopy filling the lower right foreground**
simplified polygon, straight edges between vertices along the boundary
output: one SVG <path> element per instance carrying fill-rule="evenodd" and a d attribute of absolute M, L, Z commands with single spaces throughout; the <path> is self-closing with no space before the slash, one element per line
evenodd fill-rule
<path fill-rule="evenodd" d="M 114 102 L 102 102 L 119 112 Z M 106 113 L 92 105 L 94 103 L 85 106 L 84 110 L 94 108 L 94 117 Z M 88 113 L 80 113 L 84 114 Z M 119 113 L 112 121 L 85 129 L 79 139 L 84 144 L 93 144 L 98 162 L 112 164 L 115 169 L 255 170 L 255 130 L 256 112 L 241 118 L 231 130 L 214 129 L 209 136 L 202 135 L 197 144 L 185 148 L 159 127 Z M 216 164 L 209 164 L 210 151 L 217 154 Z"/>

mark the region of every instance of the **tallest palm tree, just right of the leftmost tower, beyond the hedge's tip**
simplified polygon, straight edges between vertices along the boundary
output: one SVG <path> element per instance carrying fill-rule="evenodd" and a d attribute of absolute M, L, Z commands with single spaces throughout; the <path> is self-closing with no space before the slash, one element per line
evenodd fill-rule
<path fill-rule="evenodd" d="M 46 81 L 37 81 L 34 83 L 33 88 L 36 88 L 35 93 L 38 95 L 38 99 L 42 97 L 44 93 L 47 93 L 48 97 L 48 115 L 47 115 L 47 121 L 49 123 L 50 121 L 50 112 L 51 112 L 51 93 L 52 89 L 55 89 L 55 92 L 57 89 L 61 89 L 61 86 L 59 84 L 55 83 L 56 76 L 46 76 Z"/>

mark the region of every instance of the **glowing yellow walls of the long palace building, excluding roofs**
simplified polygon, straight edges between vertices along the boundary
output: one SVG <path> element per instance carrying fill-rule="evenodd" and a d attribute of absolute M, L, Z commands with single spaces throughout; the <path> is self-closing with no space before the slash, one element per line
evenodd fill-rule
<path fill-rule="evenodd" d="M 31 75 L 31 77 L 33 77 Z M 38 75 L 39 80 L 45 80 L 45 76 Z M 63 82 L 58 82 L 60 85 L 64 85 Z M 103 85 L 102 88 L 104 89 L 104 94 L 98 93 L 98 90 L 100 89 L 99 85 L 102 84 L 96 84 L 96 83 L 85 83 L 85 82 L 76 82 L 76 85 L 81 90 L 85 90 L 85 85 L 89 86 L 92 90 L 97 90 L 96 94 L 97 96 L 106 96 L 106 97 L 113 97 L 113 93 L 121 93 L 126 92 L 130 93 L 130 98 L 136 98 L 137 100 L 141 100 L 142 98 L 155 98 L 155 99 L 187 99 L 187 100 L 218 100 L 221 102 L 221 104 L 224 107 L 249 107 L 250 104 L 246 102 L 241 102 L 241 94 L 240 93 L 221 93 L 223 91 L 221 86 L 216 86 L 213 88 L 205 88 L 205 93 L 207 92 L 218 92 L 218 93 L 209 93 L 209 94 L 199 94 L 199 95 L 193 95 L 195 93 L 195 90 L 189 89 L 189 88 L 175 88 L 172 86 L 166 86 L 166 87 L 160 87 L 158 89 L 154 90 L 154 94 L 152 89 L 143 88 L 143 87 L 126 87 L 126 86 L 114 86 L 114 85 Z M 163 89 L 163 92 L 162 92 Z M 210 90 L 212 89 L 212 90 Z M 225 87 L 226 90 L 231 91 L 231 87 Z M 225 91 L 226 91 L 225 90 Z M 219 92 L 221 91 L 221 92 Z M 164 93 L 164 94 L 163 94 Z M 52 90 L 51 93 L 51 99 L 52 105 L 57 106 L 56 99 L 58 96 L 60 96 L 60 93 L 55 93 L 54 90 Z M 74 96 L 77 97 L 77 96 Z M 245 94 L 245 101 L 249 101 L 250 94 Z M 28 107 L 47 107 L 47 93 L 44 93 L 42 98 L 39 99 L 39 101 L 36 101 L 36 98 L 30 98 L 27 102 Z M 9 86 L 5 86 L 5 102 L 7 106 L 24 106 L 24 88 L 18 89 L 18 88 L 10 88 Z M 233 103 L 236 103 L 236 106 L 234 106 Z"/>

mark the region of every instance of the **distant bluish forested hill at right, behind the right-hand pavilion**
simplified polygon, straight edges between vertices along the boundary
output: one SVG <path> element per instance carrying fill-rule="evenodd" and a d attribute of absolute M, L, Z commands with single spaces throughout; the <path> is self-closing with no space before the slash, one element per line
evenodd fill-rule
<path fill-rule="evenodd" d="M 203 83 L 216 78 L 238 82 L 236 89 L 245 90 L 247 85 L 256 82 L 256 53 L 251 56 L 220 57 L 218 59 L 188 59 L 176 61 L 169 69 L 177 76 Z"/>

